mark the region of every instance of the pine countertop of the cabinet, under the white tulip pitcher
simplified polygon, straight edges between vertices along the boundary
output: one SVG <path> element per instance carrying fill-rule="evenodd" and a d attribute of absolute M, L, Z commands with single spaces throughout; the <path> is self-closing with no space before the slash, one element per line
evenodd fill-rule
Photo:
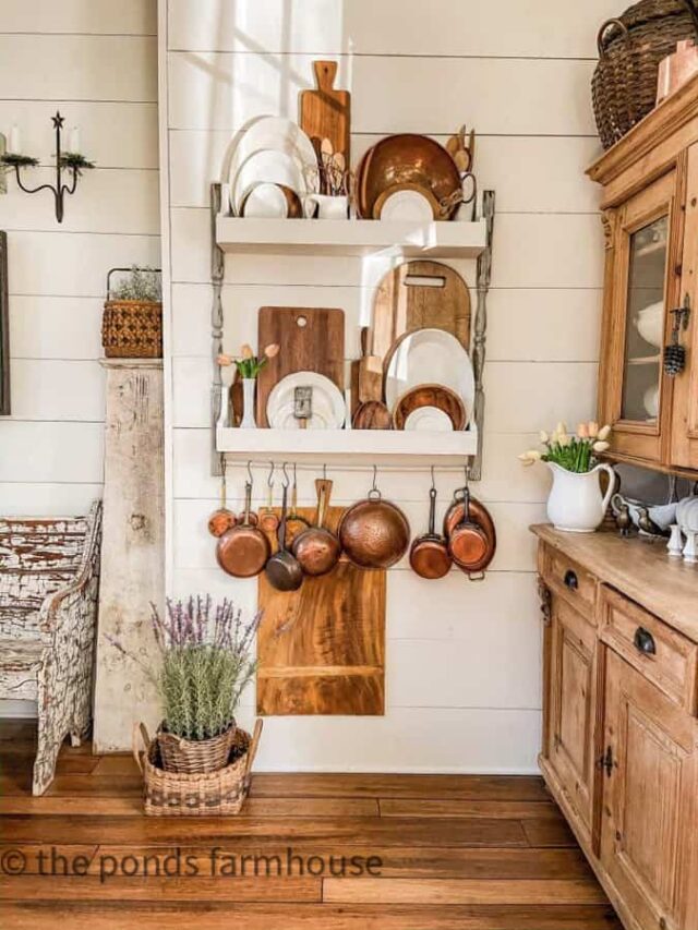
<path fill-rule="evenodd" d="M 550 523 L 531 532 L 698 642 L 698 565 L 666 554 L 665 541 L 616 533 L 564 533 Z"/>

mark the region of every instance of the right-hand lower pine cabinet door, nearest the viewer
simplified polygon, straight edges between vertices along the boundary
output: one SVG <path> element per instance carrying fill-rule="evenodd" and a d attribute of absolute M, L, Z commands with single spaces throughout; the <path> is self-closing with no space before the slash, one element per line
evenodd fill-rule
<path fill-rule="evenodd" d="M 684 930 L 698 831 L 698 725 L 610 652 L 601 861 L 642 927 Z"/>

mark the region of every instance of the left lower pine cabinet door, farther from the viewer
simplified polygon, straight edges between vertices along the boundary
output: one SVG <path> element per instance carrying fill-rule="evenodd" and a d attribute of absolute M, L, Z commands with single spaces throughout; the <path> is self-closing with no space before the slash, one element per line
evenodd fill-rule
<path fill-rule="evenodd" d="M 550 764 L 580 828 L 591 832 L 597 636 L 581 614 L 553 597 Z"/>

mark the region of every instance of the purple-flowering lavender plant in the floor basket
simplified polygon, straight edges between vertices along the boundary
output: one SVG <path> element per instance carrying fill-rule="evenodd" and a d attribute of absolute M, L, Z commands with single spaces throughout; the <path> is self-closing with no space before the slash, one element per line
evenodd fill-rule
<path fill-rule="evenodd" d="M 244 623 L 242 612 L 225 599 L 215 607 L 209 595 L 167 599 L 160 617 L 151 604 L 160 663 L 154 671 L 113 637 L 109 642 L 136 662 L 157 687 L 164 728 L 185 739 L 210 739 L 234 722 L 240 696 L 256 669 L 251 656 L 262 614 Z"/>

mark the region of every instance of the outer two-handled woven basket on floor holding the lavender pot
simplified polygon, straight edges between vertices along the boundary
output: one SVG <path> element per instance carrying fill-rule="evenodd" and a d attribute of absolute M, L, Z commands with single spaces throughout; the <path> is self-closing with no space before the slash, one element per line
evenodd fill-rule
<path fill-rule="evenodd" d="M 226 817 L 240 813 L 250 792 L 250 773 L 260 744 L 262 721 L 254 736 L 237 729 L 232 761 L 208 774 L 178 774 L 161 768 L 157 739 L 144 724 L 133 727 L 133 756 L 143 775 L 143 801 L 147 817 Z M 145 749 L 141 748 L 142 740 Z"/>

